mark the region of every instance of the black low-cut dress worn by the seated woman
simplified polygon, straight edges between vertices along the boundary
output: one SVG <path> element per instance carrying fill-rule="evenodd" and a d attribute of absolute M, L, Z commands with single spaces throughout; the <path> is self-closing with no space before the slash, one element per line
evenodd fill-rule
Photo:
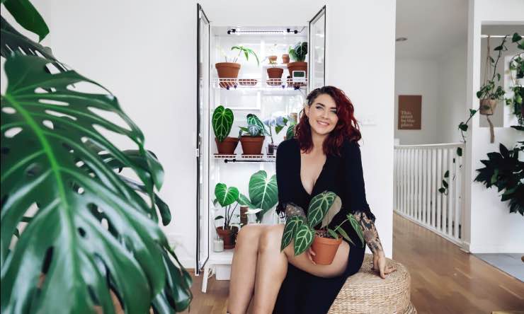
<path fill-rule="evenodd" d="M 338 226 L 346 219 L 348 211 L 353 213 L 357 209 L 375 220 L 365 199 L 360 147 L 356 142 L 346 140 L 341 156 L 326 156 L 326 163 L 315 182 L 312 194 L 308 194 L 302 185 L 300 167 L 300 146 L 297 139 L 283 141 L 278 146 L 276 160 L 278 213 L 283 211 L 286 202 L 293 202 L 302 207 L 307 214 L 312 196 L 329 190 L 335 192 L 342 200 L 341 211 L 329 223 L 329 228 Z M 362 247 L 358 235 L 347 221 L 342 227 L 355 243 L 352 245 L 346 241 L 350 245 L 346 271 L 338 277 L 324 278 L 304 272 L 288 263 L 287 274 L 280 286 L 273 314 L 328 312 L 346 279 L 358 272 L 364 259 L 365 247 Z"/>

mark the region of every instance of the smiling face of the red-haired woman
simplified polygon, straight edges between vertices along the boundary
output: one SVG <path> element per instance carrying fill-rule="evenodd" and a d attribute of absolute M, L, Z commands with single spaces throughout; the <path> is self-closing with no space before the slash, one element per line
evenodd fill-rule
<path fill-rule="evenodd" d="M 338 122 L 335 100 L 328 94 L 318 95 L 311 105 L 304 107 L 312 132 L 326 135 L 333 131 Z"/>

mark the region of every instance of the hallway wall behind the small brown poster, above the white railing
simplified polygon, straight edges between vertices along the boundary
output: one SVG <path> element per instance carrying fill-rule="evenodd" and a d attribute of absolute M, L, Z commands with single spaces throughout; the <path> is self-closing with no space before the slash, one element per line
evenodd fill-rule
<path fill-rule="evenodd" d="M 396 60 L 394 137 L 400 140 L 400 145 L 439 143 L 443 120 L 438 113 L 442 105 L 438 71 L 435 59 Z M 422 95 L 421 129 L 399 129 L 399 95 Z"/>

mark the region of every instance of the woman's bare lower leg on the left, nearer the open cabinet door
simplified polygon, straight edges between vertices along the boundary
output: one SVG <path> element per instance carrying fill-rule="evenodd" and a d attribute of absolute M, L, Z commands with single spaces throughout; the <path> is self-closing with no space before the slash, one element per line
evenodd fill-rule
<path fill-rule="evenodd" d="M 251 224 L 242 227 L 237 235 L 231 264 L 227 312 L 246 313 L 255 285 L 258 239 L 268 225 Z"/>

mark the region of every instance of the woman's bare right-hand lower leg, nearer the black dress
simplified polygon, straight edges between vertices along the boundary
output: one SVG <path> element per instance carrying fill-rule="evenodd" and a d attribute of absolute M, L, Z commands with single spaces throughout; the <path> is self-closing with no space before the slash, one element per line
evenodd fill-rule
<path fill-rule="evenodd" d="M 269 226 L 260 237 L 253 314 L 268 314 L 275 307 L 278 291 L 287 273 L 287 257 L 285 252 L 280 252 L 283 231 L 283 225 Z"/>

